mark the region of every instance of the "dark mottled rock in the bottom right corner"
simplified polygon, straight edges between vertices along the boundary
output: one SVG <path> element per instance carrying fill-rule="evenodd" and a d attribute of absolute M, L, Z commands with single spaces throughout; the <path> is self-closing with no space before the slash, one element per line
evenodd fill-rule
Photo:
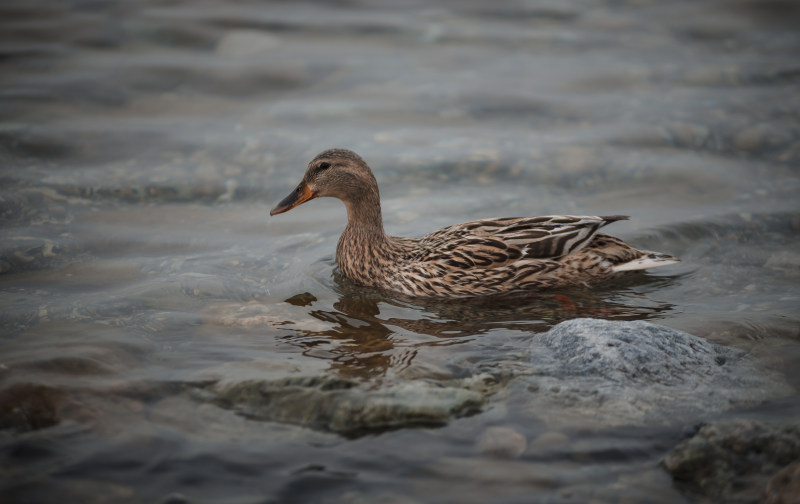
<path fill-rule="evenodd" d="M 688 493 L 714 502 L 797 502 L 797 463 L 790 464 L 798 459 L 800 423 L 724 420 L 703 425 L 663 464 Z"/>

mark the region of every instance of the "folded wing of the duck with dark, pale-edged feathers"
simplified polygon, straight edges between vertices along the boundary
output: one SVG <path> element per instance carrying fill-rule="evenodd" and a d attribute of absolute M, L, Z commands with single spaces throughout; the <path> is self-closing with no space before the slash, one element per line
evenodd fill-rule
<path fill-rule="evenodd" d="M 628 217 L 548 215 L 483 219 L 422 238 L 424 261 L 496 268 L 523 259 L 556 259 L 585 247 L 601 227 Z"/>

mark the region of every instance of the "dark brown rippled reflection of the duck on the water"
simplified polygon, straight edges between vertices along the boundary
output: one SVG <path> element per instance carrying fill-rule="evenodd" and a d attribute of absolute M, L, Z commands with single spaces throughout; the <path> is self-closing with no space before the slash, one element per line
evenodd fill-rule
<path fill-rule="evenodd" d="M 460 345 L 489 331 L 544 332 L 576 317 L 659 318 L 672 305 L 653 301 L 647 294 L 671 281 L 672 277 L 642 273 L 591 291 L 576 288 L 524 296 L 447 300 L 365 289 L 334 270 L 333 290 L 338 300 L 332 310 L 313 309 L 317 298 L 309 293 L 286 300 L 309 307 L 308 314 L 330 328 L 295 329 L 295 334 L 284 337 L 284 341 L 302 347 L 306 355 L 331 359 L 331 368 L 348 377 L 402 374 L 418 358 L 420 347 Z M 320 351 L 318 347 L 325 343 L 320 337 L 338 344 Z"/>

